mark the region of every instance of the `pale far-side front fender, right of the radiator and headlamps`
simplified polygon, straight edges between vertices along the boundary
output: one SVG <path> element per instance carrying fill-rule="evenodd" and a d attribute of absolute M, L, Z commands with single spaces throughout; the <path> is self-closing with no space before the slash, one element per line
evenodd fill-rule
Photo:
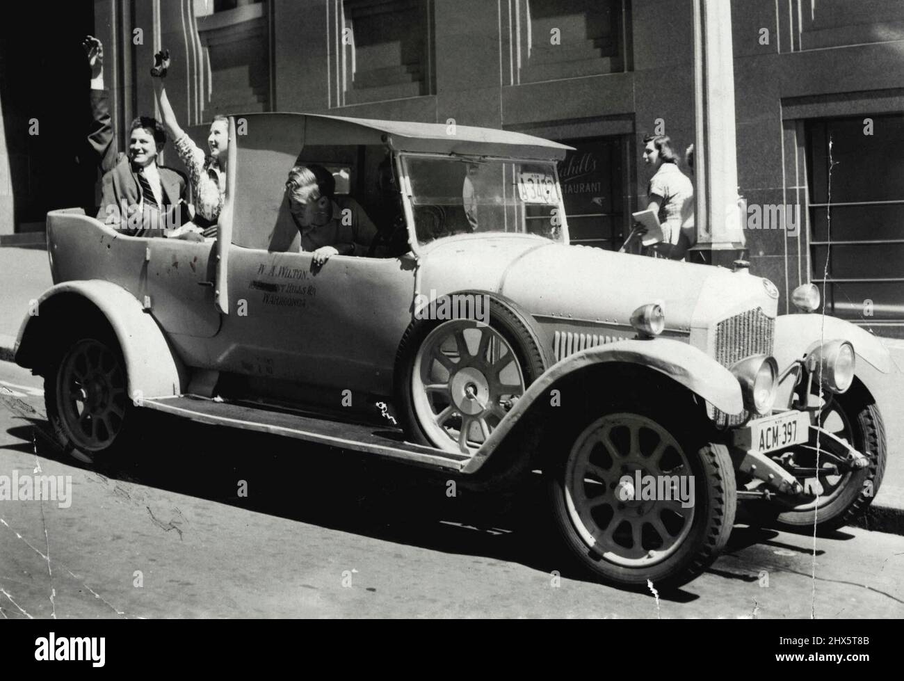
<path fill-rule="evenodd" d="M 776 345 L 773 355 L 779 371 L 801 359 L 814 347 L 833 340 L 850 341 L 858 359 L 882 374 L 890 374 L 894 362 L 879 338 L 860 326 L 824 315 L 779 315 L 776 317 Z"/>

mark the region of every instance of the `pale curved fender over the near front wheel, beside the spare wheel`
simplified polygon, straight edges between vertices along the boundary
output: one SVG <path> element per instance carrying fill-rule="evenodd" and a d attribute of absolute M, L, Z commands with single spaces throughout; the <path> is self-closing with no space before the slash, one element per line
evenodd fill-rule
<path fill-rule="evenodd" d="M 531 405 L 548 399 L 551 386 L 562 377 L 607 362 L 639 364 L 665 374 L 726 413 L 737 414 L 744 409 L 738 379 L 712 357 L 692 345 L 669 338 L 624 340 L 598 345 L 565 357 L 534 381 L 522 398 L 515 402 L 512 411 L 490 433 L 490 437 L 463 472 L 473 473 L 481 468 Z"/>

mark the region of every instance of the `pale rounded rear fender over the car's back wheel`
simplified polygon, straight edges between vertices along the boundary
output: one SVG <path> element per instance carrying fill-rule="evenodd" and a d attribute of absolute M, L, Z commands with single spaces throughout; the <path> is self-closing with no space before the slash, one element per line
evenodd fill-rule
<path fill-rule="evenodd" d="M 147 314 L 125 288 L 99 279 L 65 281 L 48 288 L 38 298 L 38 314 L 25 317 L 16 336 L 16 364 L 33 368 L 40 362 L 48 340 L 59 333 L 59 326 L 55 325 L 71 323 L 70 318 L 62 314 L 65 307 L 54 312 L 55 307 L 47 303 L 71 295 L 97 307 L 112 327 L 126 363 L 130 396 L 138 394 L 151 398 L 182 393 L 182 387 L 187 383 L 184 364 L 171 350 L 154 317 Z"/>

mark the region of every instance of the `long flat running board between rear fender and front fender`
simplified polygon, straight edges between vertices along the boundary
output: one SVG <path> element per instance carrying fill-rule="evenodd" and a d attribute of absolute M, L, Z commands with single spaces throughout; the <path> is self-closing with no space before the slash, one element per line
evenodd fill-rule
<path fill-rule="evenodd" d="M 402 431 L 394 427 L 331 421 L 191 395 L 144 399 L 141 406 L 199 423 L 256 430 L 331 447 L 363 451 L 427 468 L 461 471 L 471 460 L 468 454 L 406 442 Z"/>

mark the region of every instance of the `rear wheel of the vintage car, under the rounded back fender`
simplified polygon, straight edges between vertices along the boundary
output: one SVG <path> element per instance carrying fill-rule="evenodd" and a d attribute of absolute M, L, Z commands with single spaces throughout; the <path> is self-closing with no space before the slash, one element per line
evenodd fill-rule
<path fill-rule="evenodd" d="M 99 462 L 127 446 L 135 408 L 115 338 L 84 336 L 62 347 L 45 375 L 44 402 L 63 449 Z"/>

